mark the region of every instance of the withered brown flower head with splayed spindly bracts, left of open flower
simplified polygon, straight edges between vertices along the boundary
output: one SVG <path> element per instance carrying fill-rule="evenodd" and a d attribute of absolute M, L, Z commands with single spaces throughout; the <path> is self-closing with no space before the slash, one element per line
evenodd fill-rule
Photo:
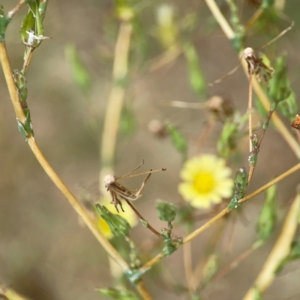
<path fill-rule="evenodd" d="M 121 207 L 121 210 L 124 212 L 121 200 L 125 200 L 128 203 L 129 201 L 135 201 L 142 196 L 141 192 L 152 173 L 166 171 L 165 168 L 162 168 L 159 170 L 150 170 L 148 172 L 130 175 L 132 172 L 139 169 L 143 164 L 144 161 L 140 163 L 136 168 L 134 168 L 133 170 L 131 170 L 130 172 L 122 176 L 116 177 L 113 175 L 106 175 L 104 177 L 103 181 L 105 187 L 107 188 L 107 191 L 109 191 L 111 195 L 111 204 L 114 204 L 117 212 L 119 212 L 118 205 Z M 147 174 L 147 177 L 143 180 L 142 185 L 138 190 L 129 189 L 118 182 L 119 179 L 131 178 L 131 177 L 145 175 L 145 174 Z"/>

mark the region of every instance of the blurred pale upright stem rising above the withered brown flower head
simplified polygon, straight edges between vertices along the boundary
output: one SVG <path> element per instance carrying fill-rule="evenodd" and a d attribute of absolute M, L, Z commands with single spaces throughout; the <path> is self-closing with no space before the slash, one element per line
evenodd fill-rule
<path fill-rule="evenodd" d="M 125 96 L 125 79 L 128 74 L 128 56 L 130 50 L 132 25 L 130 22 L 121 22 L 118 39 L 115 47 L 115 59 L 113 65 L 113 86 L 111 88 L 102 133 L 101 163 L 99 174 L 100 191 L 105 195 L 105 187 L 102 184 L 107 174 L 113 174 L 113 162 L 116 150 L 119 121 Z"/>

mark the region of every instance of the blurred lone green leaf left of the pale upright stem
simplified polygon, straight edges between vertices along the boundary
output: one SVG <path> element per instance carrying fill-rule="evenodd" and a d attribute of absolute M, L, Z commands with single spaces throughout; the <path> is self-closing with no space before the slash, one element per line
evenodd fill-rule
<path fill-rule="evenodd" d="M 72 75 L 75 83 L 82 90 L 87 92 L 91 87 L 90 75 L 83 64 L 82 59 L 77 51 L 77 48 L 73 44 L 69 44 L 65 47 L 65 54 L 67 60 L 71 65 Z"/>

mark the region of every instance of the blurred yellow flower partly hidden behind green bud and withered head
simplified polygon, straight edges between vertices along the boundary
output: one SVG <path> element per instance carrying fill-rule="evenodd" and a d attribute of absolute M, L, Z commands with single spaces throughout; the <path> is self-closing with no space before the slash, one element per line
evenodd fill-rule
<path fill-rule="evenodd" d="M 111 199 L 110 197 L 103 198 L 99 201 L 101 205 L 105 205 L 105 207 L 112 212 L 113 214 L 117 214 L 116 208 L 113 204 L 110 203 Z M 124 208 L 124 212 L 120 211 L 120 216 L 127 220 L 129 225 L 131 227 L 134 227 L 138 223 L 138 219 L 136 214 L 132 211 L 132 209 L 129 207 L 129 205 L 123 201 L 122 206 Z M 106 221 L 97 214 L 97 221 L 96 221 L 97 227 L 101 231 L 101 233 L 107 237 L 108 239 L 113 237 L 112 232 L 110 231 L 110 228 Z"/>

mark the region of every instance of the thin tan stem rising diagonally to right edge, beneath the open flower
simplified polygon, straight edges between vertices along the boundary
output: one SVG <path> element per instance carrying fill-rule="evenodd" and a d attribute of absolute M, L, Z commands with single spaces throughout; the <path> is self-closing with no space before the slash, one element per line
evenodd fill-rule
<path fill-rule="evenodd" d="M 266 189 L 268 189 L 270 186 L 274 185 L 275 183 L 278 183 L 279 181 L 281 181 L 282 179 L 288 177 L 289 175 L 295 173 L 296 171 L 300 170 L 300 163 L 295 165 L 294 167 L 292 167 L 291 169 L 289 169 L 288 171 L 284 172 L 283 174 L 281 174 L 280 176 L 276 177 L 275 179 L 271 180 L 270 182 L 268 182 L 267 184 L 265 184 L 264 186 L 262 186 L 261 188 L 257 189 L 256 191 L 254 191 L 253 193 L 245 196 L 244 198 L 240 199 L 238 201 L 239 204 L 244 203 L 248 200 L 250 200 L 251 198 L 255 197 L 256 195 L 262 193 L 263 191 L 265 191 Z M 194 232 L 192 232 L 191 234 L 189 234 L 187 237 L 185 237 L 185 239 L 183 240 L 183 244 L 190 242 L 191 240 L 193 240 L 196 236 L 198 236 L 199 234 L 201 234 L 202 232 L 204 232 L 206 229 L 208 229 L 211 225 L 213 225 L 215 222 L 217 222 L 218 220 L 220 220 L 221 218 L 223 218 L 226 214 L 228 214 L 231 211 L 230 208 L 226 207 L 225 209 L 223 209 L 221 212 L 219 212 L 215 217 L 213 217 L 212 219 L 210 219 L 208 222 L 206 222 L 205 224 L 203 224 L 201 227 L 199 227 L 198 229 L 196 229 Z M 162 253 L 159 253 L 158 255 L 156 255 L 154 258 L 152 258 L 150 261 L 148 261 L 142 268 L 150 268 L 151 266 L 153 266 L 154 264 L 156 264 L 157 262 L 159 262 L 161 259 L 163 258 Z"/>

